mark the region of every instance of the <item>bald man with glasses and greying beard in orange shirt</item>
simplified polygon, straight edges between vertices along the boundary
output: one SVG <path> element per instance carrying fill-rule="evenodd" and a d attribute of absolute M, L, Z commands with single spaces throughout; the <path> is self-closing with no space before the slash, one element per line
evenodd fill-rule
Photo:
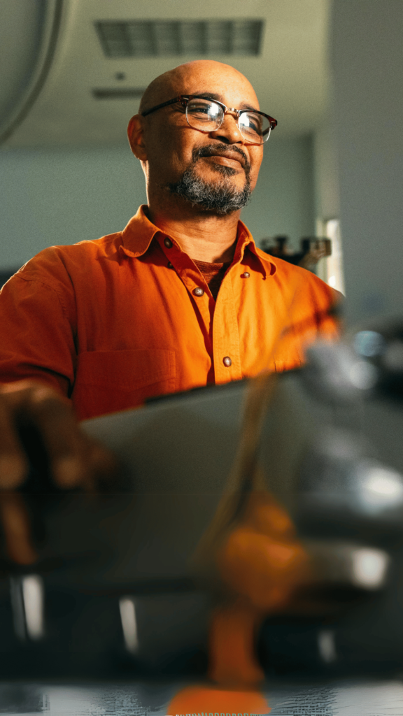
<path fill-rule="evenodd" d="M 306 342 L 336 334 L 331 289 L 259 251 L 240 222 L 275 124 L 219 62 L 181 65 L 146 89 L 128 137 L 148 204 L 123 232 L 45 249 L 1 292 L 1 488 L 27 473 L 21 420 L 42 433 L 54 480 L 72 487 L 105 455 L 71 404 L 83 419 L 283 371 L 303 362 Z M 22 534 L 13 504 L 3 518 Z"/>

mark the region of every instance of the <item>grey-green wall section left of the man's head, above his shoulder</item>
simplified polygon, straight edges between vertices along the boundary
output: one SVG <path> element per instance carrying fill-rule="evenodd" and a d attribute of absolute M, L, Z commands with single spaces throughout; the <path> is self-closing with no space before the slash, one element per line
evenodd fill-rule
<path fill-rule="evenodd" d="M 0 154 L 0 268 L 42 248 L 119 231 L 146 200 L 129 148 L 6 150 Z"/>

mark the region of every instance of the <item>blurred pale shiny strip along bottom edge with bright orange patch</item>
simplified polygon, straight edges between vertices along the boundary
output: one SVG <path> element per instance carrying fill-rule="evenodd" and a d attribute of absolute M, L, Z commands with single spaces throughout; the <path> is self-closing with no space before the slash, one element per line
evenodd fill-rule
<path fill-rule="evenodd" d="M 172 710 L 171 707 L 174 707 Z M 0 684 L 1 714 L 49 716 L 185 716 L 240 711 L 270 716 L 389 716 L 403 713 L 403 684 L 366 682 L 277 682 L 261 691 L 224 691 L 212 685 Z"/>

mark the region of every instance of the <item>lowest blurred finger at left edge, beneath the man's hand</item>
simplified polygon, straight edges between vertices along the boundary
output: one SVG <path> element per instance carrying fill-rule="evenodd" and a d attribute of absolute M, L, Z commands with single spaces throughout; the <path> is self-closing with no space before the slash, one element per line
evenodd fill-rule
<path fill-rule="evenodd" d="M 37 561 L 37 553 L 31 543 L 27 508 L 22 495 L 0 493 L 0 521 L 9 558 L 17 564 L 32 564 Z"/>

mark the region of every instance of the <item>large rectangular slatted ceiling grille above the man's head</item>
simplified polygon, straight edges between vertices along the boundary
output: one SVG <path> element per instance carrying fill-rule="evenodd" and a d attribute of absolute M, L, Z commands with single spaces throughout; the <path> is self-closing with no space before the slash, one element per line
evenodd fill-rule
<path fill-rule="evenodd" d="M 257 55 L 262 20 L 95 22 L 106 57 Z"/>

